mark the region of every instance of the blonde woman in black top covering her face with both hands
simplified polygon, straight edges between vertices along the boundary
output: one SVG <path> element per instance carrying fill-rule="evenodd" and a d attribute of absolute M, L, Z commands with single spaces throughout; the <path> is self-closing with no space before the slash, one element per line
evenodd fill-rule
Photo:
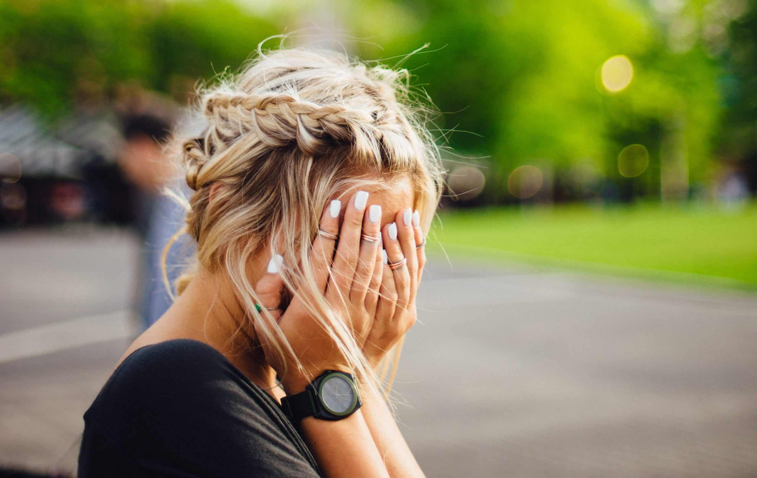
<path fill-rule="evenodd" d="M 442 187 L 408 78 L 259 46 L 204 92 L 197 261 L 86 411 L 79 476 L 423 476 L 379 392 Z"/>

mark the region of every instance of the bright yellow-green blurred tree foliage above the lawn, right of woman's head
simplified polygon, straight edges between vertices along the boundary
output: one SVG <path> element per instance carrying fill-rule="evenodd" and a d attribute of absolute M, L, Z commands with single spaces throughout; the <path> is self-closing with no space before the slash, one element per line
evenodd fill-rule
<path fill-rule="evenodd" d="M 383 2 L 392 5 L 393 2 Z M 373 8 L 378 8 L 376 2 Z M 382 38 L 385 53 L 400 55 L 422 41 L 441 48 L 413 64 L 456 133 L 459 151 L 491 155 L 491 198 L 507 198 L 509 173 L 522 164 L 566 170 L 593 163 L 619 180 L 618 153 L 640 143 L 653 164 L 635 179 L 659 195 L 659 155 L 665 135 L 685 123 L 690 180 L 712 164 L 713 135 L 721 116 L 718 65 L 702 48 L 673 53 L 667 37 L 640 4 L 572 2 L 410 2 L 402 16 L 419 20 L 412 34 Z M 692 7 L 693 8 L 693 7 Z M 354 16 L 360 17 L 360 8 Z M 357 23 L 366 36 L 381 27 Z M 375 54 L 372 48 L 363 48 Z M 603 89 L 599 70 L 614 55 L 634 65 L 628 88 Z M 420 65 L 419 65 L 420 66 Z M 494 185 L 495 187 L 491 187 Z"/>

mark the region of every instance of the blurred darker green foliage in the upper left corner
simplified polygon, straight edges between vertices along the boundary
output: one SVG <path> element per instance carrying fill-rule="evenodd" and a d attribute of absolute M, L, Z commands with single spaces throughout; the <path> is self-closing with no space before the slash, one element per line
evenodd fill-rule
<path fill-rule="evenodd" d="M 79 95 L 112 95 L 126 82 L 178 93 L 240 67 L 274 33 L 234 2 L 2 3 L 0 98 L 55 118 Z"/>

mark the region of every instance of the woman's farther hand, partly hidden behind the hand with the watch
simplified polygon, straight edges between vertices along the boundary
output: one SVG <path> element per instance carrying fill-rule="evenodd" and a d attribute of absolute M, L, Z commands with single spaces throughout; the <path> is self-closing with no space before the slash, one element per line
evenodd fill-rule
<path fill-rule="evenodd" d="M 382 245 L 388 263 L 407 258 L 407 264 L 391 269 L 376 267 L 382 274 L 378 305 L 371 330 L 363 345 L 366 360 L 375 370 L 391 347 L 416 323 L 416 292 L 425 265 L 425 247 L 418 212 L 408 208 L 397 212 L 394 223 L 382 229 Z"/>

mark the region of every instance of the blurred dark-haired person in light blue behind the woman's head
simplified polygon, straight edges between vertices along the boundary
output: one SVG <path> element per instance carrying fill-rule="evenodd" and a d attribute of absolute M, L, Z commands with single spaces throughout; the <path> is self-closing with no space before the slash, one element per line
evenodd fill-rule
<path fill-rule="evenodd" d="M 173 167 L 163 155 L 163 145 L 173 124 L 166 114 L 151 112 L 127 114 L 123 120 L 126 139 L 118 164 L 135 186 L 132 200 L 133 225 L 139 235 L 139 267 L 136 274 L 134 309 L 142 330 L 151 326 L 170 306 L 164 287 L 160 260 L 164 246 L 176 232 L 184 209 L 162 193 L 170 185 Z M 176 265 L 192 254 L 185 238 L 167 257 L 169 280 L 176 280 Z M 188 249 L 187 249 L 188 248 Z"/>

